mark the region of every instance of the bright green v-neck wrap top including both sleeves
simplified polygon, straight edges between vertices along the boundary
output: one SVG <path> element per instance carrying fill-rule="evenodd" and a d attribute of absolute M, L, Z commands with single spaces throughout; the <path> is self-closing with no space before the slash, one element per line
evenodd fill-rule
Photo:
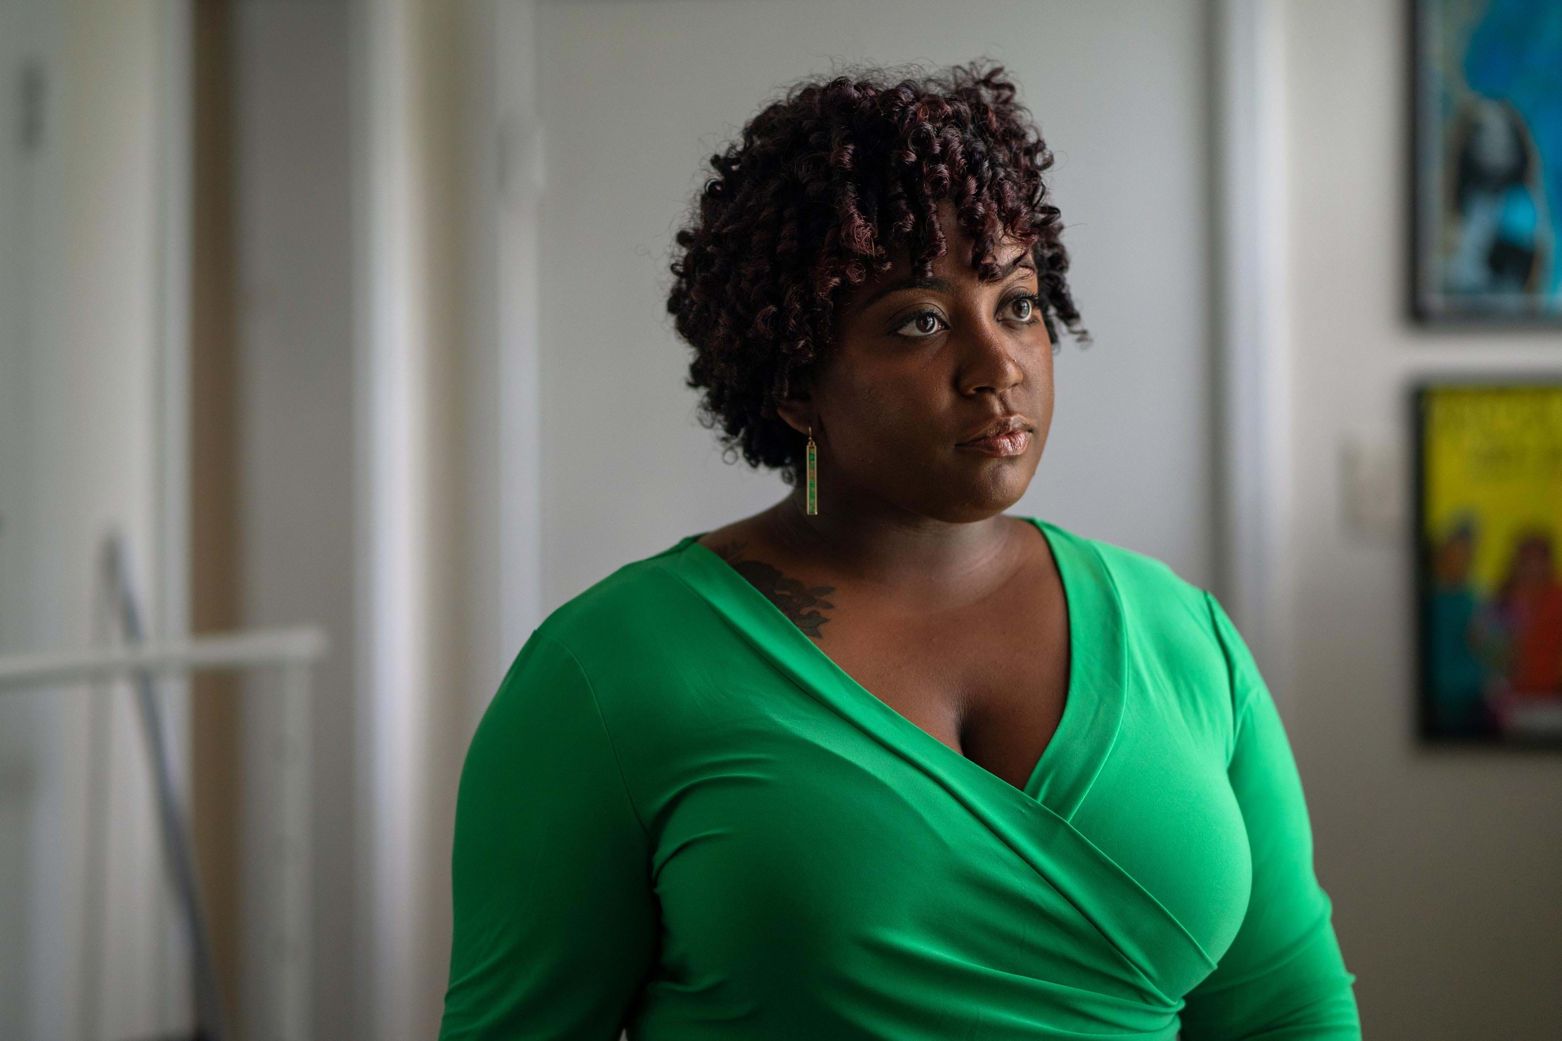
<path fill-rule="evenodd" d="M 1231 620 L 1153 557 L 1025 520 L 1070 665 L 1023 790 L 700 535 L 553 612 L 461 774 L 440 1038 L 1357 1039 Z"/>

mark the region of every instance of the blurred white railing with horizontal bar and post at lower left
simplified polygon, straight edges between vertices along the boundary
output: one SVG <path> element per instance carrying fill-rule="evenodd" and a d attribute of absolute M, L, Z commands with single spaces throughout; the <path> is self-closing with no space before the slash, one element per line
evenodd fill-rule
<path fill-rule="evenodd" d="M 150 691 L 153 676 L 187 676 L 206 671 L 255 671 L 275 670 L 278 698 L 272 710 L 261 713 L 266 719 L 267 788 L 275 794 L 266 807 L 267 819 L 261 822 L 266 835 L 269 871 L 261 872 L 264 893 L 259 904 L 267 908 L 258 922 L 259 961 L 255 966 L 259 979 L 255 991 L 247 991 L 250 1030 L 245 1033 L 266 1041 L 308 1041 L 311 1033 L 309 1008 L 309 924 L 312 915 L 311 893 L 311 799 L 309 799 L 309 734 L 314 698 L 314 663 L 328 651 L 322 629 L 272 629 L 245 631 L 222 635 L 169 640 L 161 643 L 134 643 L 119 648 L 83 649 L 72 652 L 12 654 L 0 657 L 0 695 L 6 691 L 37 690 L 47 687 L 77 687 L 94 690 L 86 684 L 103 680 L 139 680 Z M 97 687 L 95 690 L 111 690 Z M 91 696 L 83 693 L 83 696 Z M 150 699 L 150 693 L 147 695 Z M 183 890 L 187 904 L 192 957 L 195 958 L 195 1000 L 198 1035 L 226 1038 L 228 1030 L 222 1000 L 211 975 L 208 936 L 200 901 L 195 893 L 194 852 L 189 846 L 187 808 L 172 790 L 162 748 L 164 735 L 161 713 L 152 710 L 148 723 L 148 751 L 155 783 L 159 788 L 159 804 L 164 832 L 164 847 L 175 885 Z M 245 944 L 251 949 L 250 944 Z"/>

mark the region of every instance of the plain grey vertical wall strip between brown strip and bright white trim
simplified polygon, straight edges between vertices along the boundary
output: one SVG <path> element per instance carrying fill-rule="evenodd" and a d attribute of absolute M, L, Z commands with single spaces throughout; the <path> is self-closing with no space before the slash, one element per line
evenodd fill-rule
<path fill-rule="evenodd" d="M 367 1036 L 355 1025 L 353 707 L 353 297 L 348 3 L 234 5 L 239 517 L 242 624 L 320 624 L 333 651 L 316 670 L 309 843 L 314 1036 Z M 275 677 L 261 677 L 273 682 Z M 269 783 L 266 710 L 245 702 L 251 812 L 244 832 L 247 965 L 242 1024 L 266 1008 L 256 949 L 267 915 L 261 874 Z M 272 721 L 275 723 L 275 721 Z"/>

